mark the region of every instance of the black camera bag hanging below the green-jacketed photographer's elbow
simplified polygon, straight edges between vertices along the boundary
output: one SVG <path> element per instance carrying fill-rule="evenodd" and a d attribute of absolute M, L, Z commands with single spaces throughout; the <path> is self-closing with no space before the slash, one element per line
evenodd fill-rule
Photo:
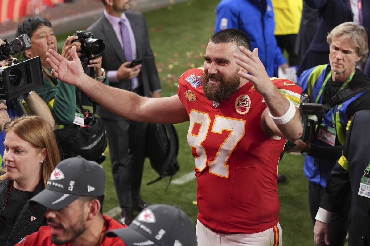
<path fill-rule="evenodd" d="M 82 106 L 81 91 L 76 88 L 76 98 L 81 113 L 84 115 L 84 126 L 68 125 L 54 131 L 61 159 L 82 156 L 87 160 L 102 163 L 105 156 L 102 155 L 107 148 L 107 137 L 102 119 L 95 117 L 95 103 L 93 113 Z"/>

